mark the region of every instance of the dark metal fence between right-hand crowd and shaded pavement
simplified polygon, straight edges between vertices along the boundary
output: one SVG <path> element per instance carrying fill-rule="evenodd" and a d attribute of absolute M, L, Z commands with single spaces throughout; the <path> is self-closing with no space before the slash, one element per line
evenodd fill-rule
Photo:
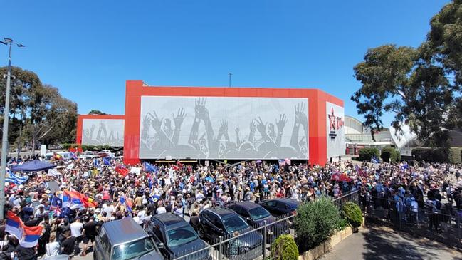
<path fill-rule="evenodd" d="M 422 203 L 411 207 L 394 199 L 360 195 L 359 205 L 369 222 L 389 224 L 400 231 L 462 249 L 462 212 L 449 203 L 442 204 L 440 209 Z"/>

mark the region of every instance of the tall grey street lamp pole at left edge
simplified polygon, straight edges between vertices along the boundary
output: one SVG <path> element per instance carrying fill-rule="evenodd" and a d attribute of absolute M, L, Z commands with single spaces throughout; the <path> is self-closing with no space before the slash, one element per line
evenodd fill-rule
<path fill-rule="evenodd" d="M 6 157 L 8 157 L 8 121 L 10 110 L 10 84 L 11 84 L 11 46 L 26 47 L 21 43 L 14 42 L 11 38 L 4 38 L 0 41 L 4 45 L 9 46 L 8 52 L 8 73 L 6 73 L 6 93 L 5 93 L 5 108 L 4 108 L 4 128 L 1 136 L 1 164 L 0 164 L 0 220 L 4 219 L 5 206 L 5 173 L 6 173 Z"/>

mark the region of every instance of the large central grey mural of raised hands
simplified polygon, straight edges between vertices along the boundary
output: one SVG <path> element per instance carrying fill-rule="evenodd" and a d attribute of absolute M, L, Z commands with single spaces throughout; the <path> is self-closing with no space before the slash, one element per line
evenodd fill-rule
<path fill-rule="evenodd" d="M 308 159 L 308 98 L 142 96 L 140 158 Z"/>

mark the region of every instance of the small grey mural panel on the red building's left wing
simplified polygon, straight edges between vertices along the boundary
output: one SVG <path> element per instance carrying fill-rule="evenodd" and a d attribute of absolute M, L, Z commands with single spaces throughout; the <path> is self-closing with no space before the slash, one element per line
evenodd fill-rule
<path fill-rule="evenodd" d="M 82 145 L 124 146 L 123 119 L 84 119 Z"/>

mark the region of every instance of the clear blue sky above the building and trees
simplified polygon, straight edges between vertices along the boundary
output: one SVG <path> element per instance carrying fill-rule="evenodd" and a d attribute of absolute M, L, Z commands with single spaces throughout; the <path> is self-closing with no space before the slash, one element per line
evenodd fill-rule
<path fill-rule="evenodd" d="M 79 113 L 125 113 L 128 79 L 226 86 L 231 72 L 233 86 L 320 88 L 356 116 L 353 66 L 367 48 L 418 46 L 446 3 L 15 0 L 1 4 L 0 36 L 25 44 L 14 66 L 59 88 Z M 0 54 L 6 64 L 6 48 Z"/>

